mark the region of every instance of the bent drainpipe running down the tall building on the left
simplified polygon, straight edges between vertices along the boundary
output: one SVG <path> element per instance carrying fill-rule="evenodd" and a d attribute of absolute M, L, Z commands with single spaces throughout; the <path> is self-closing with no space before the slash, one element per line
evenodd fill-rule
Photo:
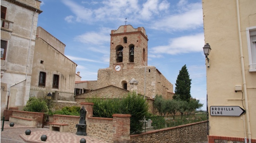
<path fill-rule="evenodd" d="M 22 81 L 25 81 L 25 80 L 27 79 L 27 75 L 28 75 L 29 53 L 30 53 L 30 49 L 31 49 L 31 41 L 32 41 L 32 34 L 33 34 L 33 27 L 34 27 L 34 17 L 35 17 L 35 13 L 36 13 L 36 12 L 37 12 L 37 10 L 34 11 L 33 17 L 32 17 L 32 25 L 31 25 L 30 39 L 29 39 L 29 51 L 28 51 L 27 64 L 26 64 L 26 77 L 25 77 L 25 79 L 23 79 Z M 19 83 L 22 82 L 22 81 L 19 81 L 19 82 L 15 83 L 15 84 L 12 84 L 12 85 L 9 87 L 9 90 L 8 90 L 8 97 L 7 97 L 6 110 L 8 110 L 9 97 L 10 97 L 11 87 L 12 87 L 12 86 L 15 86 L 16 84 L 19 84 Z"/>

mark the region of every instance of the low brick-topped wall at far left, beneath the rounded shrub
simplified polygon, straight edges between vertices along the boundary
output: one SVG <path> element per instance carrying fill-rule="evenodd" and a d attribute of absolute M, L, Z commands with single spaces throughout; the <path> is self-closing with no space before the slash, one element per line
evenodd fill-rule
<path fill-rule="evenodd" d="M 37 128 L 42 128 L 42 126 L 43 126 L 44 113 L 27 112 L 27 111 L 12 111 L 12 116 L 34 119 L 35 120 L 35 126 Z M 19 123 L 19 120 L 17 120 L 16 122 Z M 20 124 L 23 124 L 21 120 L 20 120 Z"/>

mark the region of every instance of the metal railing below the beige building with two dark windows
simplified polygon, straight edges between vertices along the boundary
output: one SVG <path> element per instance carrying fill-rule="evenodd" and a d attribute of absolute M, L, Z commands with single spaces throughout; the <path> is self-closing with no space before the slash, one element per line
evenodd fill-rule
<path fill-rule="evenodd" d="M 74 93 L 40 88 L 30 88 L 29 97 L 45 98 L 48 93 L 52 94 L 52 100 L 75 101 Z"/>

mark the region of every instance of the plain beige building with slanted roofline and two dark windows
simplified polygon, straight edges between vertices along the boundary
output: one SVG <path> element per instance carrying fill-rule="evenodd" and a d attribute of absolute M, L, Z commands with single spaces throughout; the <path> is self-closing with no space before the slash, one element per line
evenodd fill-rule
<path fill-rule="evenodd" d="M 32 88 L 74 93 L 77 64 L 64 55 L 64 49 L 61 41 L 43 28 L 37 28 Z"/>

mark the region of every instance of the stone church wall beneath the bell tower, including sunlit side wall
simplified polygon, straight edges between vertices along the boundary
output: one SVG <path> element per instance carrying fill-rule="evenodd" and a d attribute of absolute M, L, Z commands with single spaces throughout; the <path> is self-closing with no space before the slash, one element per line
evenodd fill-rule
<path fill-rule="evenodd" d="M 146 80 L 145 80 L 146 75 Z M 135 79 L 138 81 L 137 93 L 153 98 L 156 94 L 167 98 L 167 92 L 173 91 L 173 85 L 156 69 L 154 66 L 134 67 L 133 69 L 122 69 L 119 72 L 112 68 L 99 69 L 98 87 L 102 88 L 113 85 L 123 88 L 122 81 L 127 83 L 127 90 L 130 90 L 129 81 Z M 146 86 L 144 86 L 146 82 Z"/>

